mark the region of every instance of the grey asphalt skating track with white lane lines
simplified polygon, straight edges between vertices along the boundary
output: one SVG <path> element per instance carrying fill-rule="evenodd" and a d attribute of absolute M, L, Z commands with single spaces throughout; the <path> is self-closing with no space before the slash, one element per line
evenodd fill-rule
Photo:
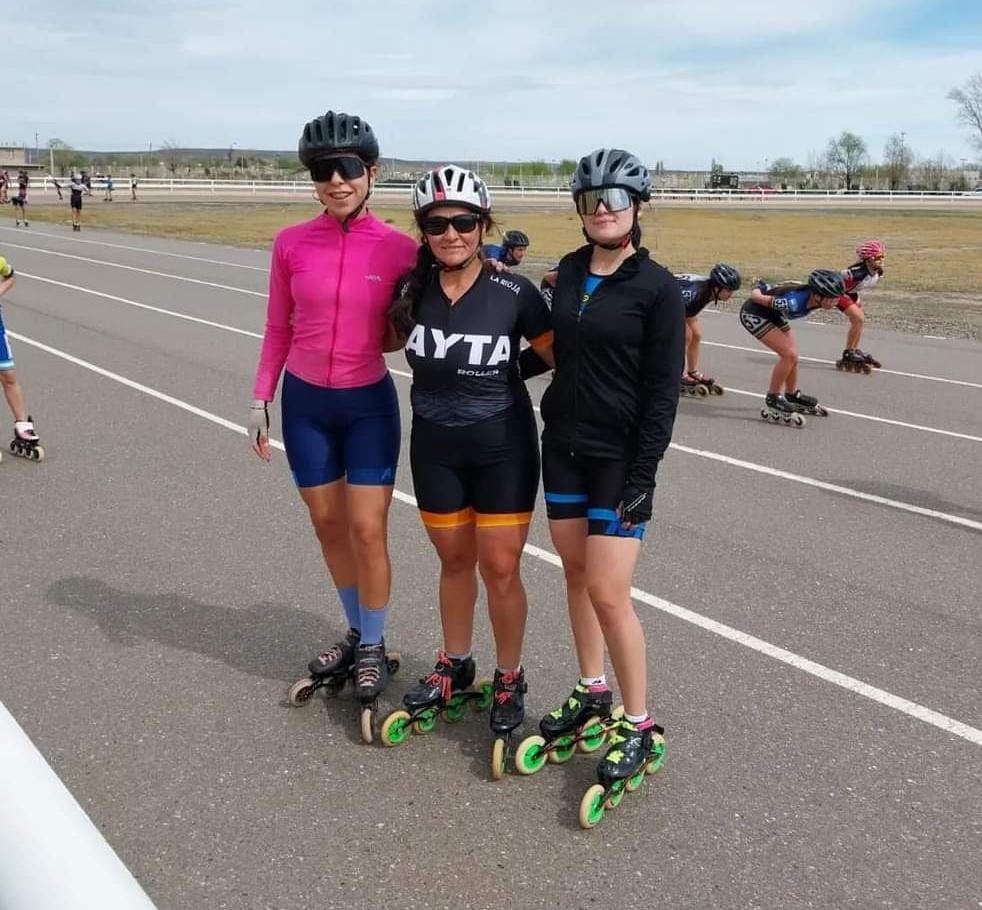
<path fill-rule="evenodd" d="M 0 464 L 0 700 L 159 907 L 982 906 L 978 344 L 869 330 L 857 376 L 844 324 L 798 322 L 833 413 L 795 430 L 707 313 L 728 391 L 682 400 L 636 575 L 668 758 L 582 831 L 589 758 L 493 783 L 483 716 L 388 750 L 346 696 L 284 705 L 343 624 L 242 435 L 266 253 L 51 225 L 0 252 L 48 453 Z M 397 490 L 392 707 L 438 644 L 408 465 Z M 575 679 L 541 507 L 530 544 L 529 732 Z M 475 644 L 490 671 L 483 618 Z"/>

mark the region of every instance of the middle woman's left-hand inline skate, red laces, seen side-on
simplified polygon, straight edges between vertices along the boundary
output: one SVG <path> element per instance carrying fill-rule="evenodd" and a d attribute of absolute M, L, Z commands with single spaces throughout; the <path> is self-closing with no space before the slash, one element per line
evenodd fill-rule
<path fill-rule="evenodd" d="M 382 743 L 400 746 L 410 733 L 432 732 L 440 718 L 456 723 L 463 718 L 468 702 L 477 711 L 489 708 L 494 684 L 489 679 L 475 683 L 475 673 L 474 658 L 454 660 L 438 652 L 433 672 L 402 697 L 404 710 L 393 711 L 383 721 Z"/>

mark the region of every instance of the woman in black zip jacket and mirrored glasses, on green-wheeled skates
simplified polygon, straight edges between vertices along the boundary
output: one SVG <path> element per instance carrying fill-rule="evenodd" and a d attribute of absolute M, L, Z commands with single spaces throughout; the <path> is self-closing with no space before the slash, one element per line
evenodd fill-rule
<path fill-rule="evenodd" d="M 630 591 L 675 421 L 685 309 L 678 283 L 641 246 L 638 211 L 650 188 L 644 165 L 621 149 L 579 162 L 572 191 L 587 245 L 560 262 L 552 300 L 556 372 L 542 400 L 542 475 L 580 679 L 516 764 L 535 770 L 557 746 L 584 738 L 589 746 L 599 728 L 588 724 L 584 737 L 584 725 L 607 718 L 610 748 L 581 806 L 585 827 L 664 753 L 663 730 L 648 714 L 644 633 Z M 609 719 L 605 645 L 624 701 L 618 721 Z"/>

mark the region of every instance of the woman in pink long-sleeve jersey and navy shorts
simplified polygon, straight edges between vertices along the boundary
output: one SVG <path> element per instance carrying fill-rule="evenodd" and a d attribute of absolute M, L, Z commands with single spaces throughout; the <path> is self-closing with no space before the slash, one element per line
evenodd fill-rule
<path fill-rule="evenodd" d="M 305 701 L 321 685 L 338 688 L 353 673 L 362 735 L 371 741 L 389 673 L 386 521 L 401 440 L 382 351 L 386 311 L 415 264 L 416 243 L 365 207 L 379 147 L 364 120 L 328 111 L 304 127 L 299 154 L 324 212 L 285 228 L 273 244 L 250 437 L 269 460 L 268 405 L 285 366 L 287 459 L 350 627 L 310 661 L 311 675 L 291 700 Z"/>

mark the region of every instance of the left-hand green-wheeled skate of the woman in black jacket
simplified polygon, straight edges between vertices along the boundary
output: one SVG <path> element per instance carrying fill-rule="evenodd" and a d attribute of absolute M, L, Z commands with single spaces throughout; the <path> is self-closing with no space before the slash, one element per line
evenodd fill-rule
<path fill-rule="evenodd" d="M 595 752 L 607 740 L 624 709 L 613 708 L 613 693 L 606 686 L 577 683 L 572 694 L 555 711 L 539 721 L 541 735 L 528 736 L 515 750 L 515 770 L 535 774 L 547 761 L 568 762 L 579 750 Z"/>

